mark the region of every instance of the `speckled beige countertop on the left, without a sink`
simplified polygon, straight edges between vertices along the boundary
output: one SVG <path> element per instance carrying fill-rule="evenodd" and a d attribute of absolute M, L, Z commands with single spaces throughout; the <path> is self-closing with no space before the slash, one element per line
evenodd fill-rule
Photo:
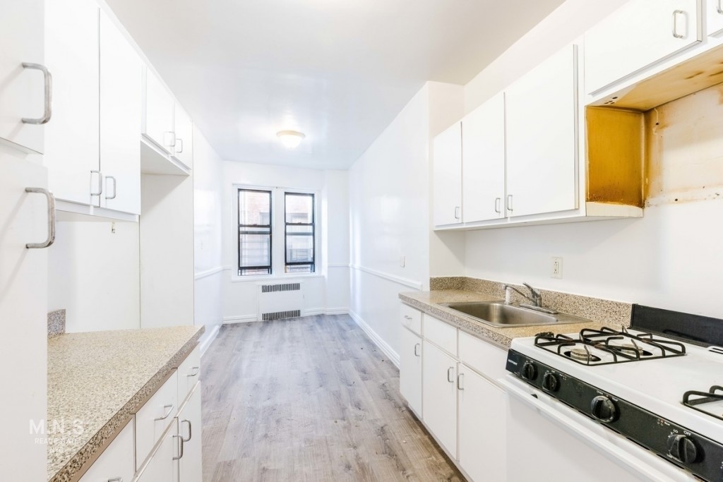
<path fill-rule="evenodd" d="M 197 345 L 204 327 L 48 340 L 48 481 L 76 481 Z"/>

